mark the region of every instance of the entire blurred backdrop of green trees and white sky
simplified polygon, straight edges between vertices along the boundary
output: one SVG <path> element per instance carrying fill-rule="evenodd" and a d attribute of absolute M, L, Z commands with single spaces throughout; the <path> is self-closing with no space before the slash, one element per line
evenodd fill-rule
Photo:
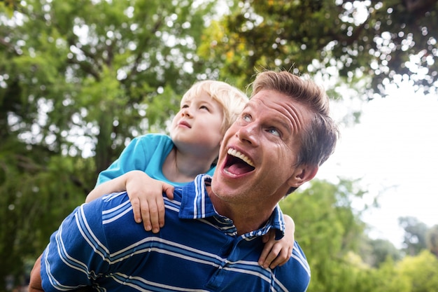
<path fill-rule="evenodd" d="M 183 92 L 286 69 L 341 125 L 318 179 L 281 207 L 310 292 L 438 291 L 438 1 L 1 0 L 0 291 L 133 137 Z"/>

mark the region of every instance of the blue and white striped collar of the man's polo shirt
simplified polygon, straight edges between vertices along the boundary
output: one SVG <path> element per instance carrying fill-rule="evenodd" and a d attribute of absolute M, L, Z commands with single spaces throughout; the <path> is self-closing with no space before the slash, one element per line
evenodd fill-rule
<path fill-rule="evenodd" d="M 199 219 L 211 216 L 220 216 L 213 207 L 207 193 L 206 186 L 211 185 L 211 176 L 199 174 L 194 181 L 183 187 L 181 209 L 179 217 L 184 219 Z M 229 220 L 229 219 L 228 219 Z M 284 236 L 285 222 L 280 207 L 275 207 L 267 223 L 260 229 L 249 232 L 246 237 L 255 237 L 266 234 L 271 228 L 276 230 L 276 239 Z"/>

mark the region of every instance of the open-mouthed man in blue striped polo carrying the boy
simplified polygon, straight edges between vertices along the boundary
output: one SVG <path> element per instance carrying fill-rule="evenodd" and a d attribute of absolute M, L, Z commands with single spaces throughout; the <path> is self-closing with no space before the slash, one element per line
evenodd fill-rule
<path fill-rule="evenodd" d="M 283 236 L 278 202 L 313 179 L 337 137 L 322 89 L 285 71 L 258 74 L 213 178 L 175 189 L 159 233 L 132 221 L 126 193 L 83 204 L 50 238 L 30 291 L 41 279 L 46 292 L 306 291 L 309 265 L 297 243 L 281 267 L 257 259 L 262 235 Z"/>

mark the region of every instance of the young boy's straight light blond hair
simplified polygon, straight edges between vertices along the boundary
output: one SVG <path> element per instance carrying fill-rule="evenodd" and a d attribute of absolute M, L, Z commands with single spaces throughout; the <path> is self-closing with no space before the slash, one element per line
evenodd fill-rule
<path fill-rule="evenodd" d="M 225 133 L 243 111 L 243 107 L 248 102 L 248 97 L 241 90 L 228 83 L 206 80 L 193 84 L 183 95 L 181 103 L 200 95 L 203 91 L 222 106 L 224 120 L 222 121 L 221 130 L 222 133 Z"/>

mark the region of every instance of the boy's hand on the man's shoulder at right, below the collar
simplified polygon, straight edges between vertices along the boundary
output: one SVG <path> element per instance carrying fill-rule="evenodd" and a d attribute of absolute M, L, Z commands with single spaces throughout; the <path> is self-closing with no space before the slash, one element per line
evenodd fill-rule
<path fill-rule="evenodd" d="M 274 269 L 276 266 L 284 265 L 292 256 L 292 249 L 295 242 L 295 222 L 290 216 L 285 215 L 285 235 L 282 239 L 275 240 L 275 231 L 270 230 L 263 235 L 264 248 L 258 263 L 264 268 Z"/>

